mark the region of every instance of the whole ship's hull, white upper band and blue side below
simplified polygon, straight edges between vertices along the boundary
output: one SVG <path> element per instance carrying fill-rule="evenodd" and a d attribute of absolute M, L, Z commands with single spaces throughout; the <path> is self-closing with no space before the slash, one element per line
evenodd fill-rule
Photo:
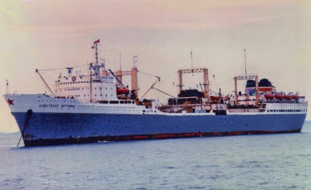
<path fill-rule="evenodd" d="M 307 104 L 293 112 L 163 113 L 136 104 L 82 103 L 44 95 L 5 95 L 25 146 L 300 132 Z M 271 106 L 277 109 L 278 105 Z M 292 108 L 291 108 L 292 107 Z M 284 110 L 284 106 L 282 105 Z"/>

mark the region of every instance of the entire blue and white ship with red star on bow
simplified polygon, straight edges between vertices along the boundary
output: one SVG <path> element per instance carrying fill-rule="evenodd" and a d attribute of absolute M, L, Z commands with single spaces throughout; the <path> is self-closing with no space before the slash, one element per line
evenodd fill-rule
<path fill-rule="evenodd" d="M 210 90 L 208 68 L 181 69 L 177 96 L 156 88 L 161 80 L 156 76 L 139 97 L 137 56 L 129 71 L 106 70 L 98 61 L 99 42 L 92 43 L 95 62 L 85 65 L 86 74 L 67 67 L 51 88 L 36 69 L 49 93 L 4 95 L 25 146 L 301 131 L 305 97 L 277 91 L 269 79 L 235 75 L 233 94 L 223 95 Z M 201 89 L 184 89 L 183 75 L 189 73 L 203 73 Z M 131 77 L 130 89 L 122 83 L 124 75 Z M 246 80 L 244 93 L 237 90 L 238 80 Z M 150 90 L 170 98 L 166 103 L 145 99 Z"/>

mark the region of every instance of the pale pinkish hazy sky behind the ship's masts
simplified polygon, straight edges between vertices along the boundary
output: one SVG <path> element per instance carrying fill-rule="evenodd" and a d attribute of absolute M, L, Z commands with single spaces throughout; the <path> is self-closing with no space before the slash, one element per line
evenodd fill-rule
<path fill-rule="evenodd" d="M 248 73 L 309 101 L 310 23 L 308 1 L 0 1 L 0 92 L 6 93 L 8 79 L 12 93 L 44 93 L 36 68 L 94 62 L 91 45 L 100 39 L 106 67 L 118 69 L 121 52 L 122 70 L 129 70 L 137 55 L 138 69 L 161 76 L 156 87 L 172 95 L 177 70 L 191 67 L 191 50 L 193 66 L 209 69 L 211 89 L 231 94 L 233 76 L 244 72 L 246 49 Z M 53 86 L 59 73 L 65 71 L 43 76 Z M 155 80 L 139 73 L 140 96 Z M 202 74 L 184 75 L 185 88 L 202 80 Z M 128 76 L 124 83 L 130 85 Z M 147 98 L 168 97 L 153 90 Z M 4 98 L 0 121 L 0 132 L 18 131 Z"/>

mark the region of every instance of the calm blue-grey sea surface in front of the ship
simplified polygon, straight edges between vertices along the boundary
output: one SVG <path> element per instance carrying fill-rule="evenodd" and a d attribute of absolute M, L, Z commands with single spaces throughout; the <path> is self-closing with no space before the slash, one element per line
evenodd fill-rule
<path fill-rule="evenodd" d="M 0 189 L 311 189 L 311 125 L 291 134 L 16 148 Z"/>

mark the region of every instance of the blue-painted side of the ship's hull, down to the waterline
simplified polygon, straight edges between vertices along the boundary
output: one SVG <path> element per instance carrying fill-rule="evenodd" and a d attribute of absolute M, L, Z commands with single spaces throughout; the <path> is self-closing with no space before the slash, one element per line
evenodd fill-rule
<path fill-rule="evenodd" d="M 161 116 L 118 114 L 13 113 L 25 146 L 299 132 L 305 114 Z"/>

